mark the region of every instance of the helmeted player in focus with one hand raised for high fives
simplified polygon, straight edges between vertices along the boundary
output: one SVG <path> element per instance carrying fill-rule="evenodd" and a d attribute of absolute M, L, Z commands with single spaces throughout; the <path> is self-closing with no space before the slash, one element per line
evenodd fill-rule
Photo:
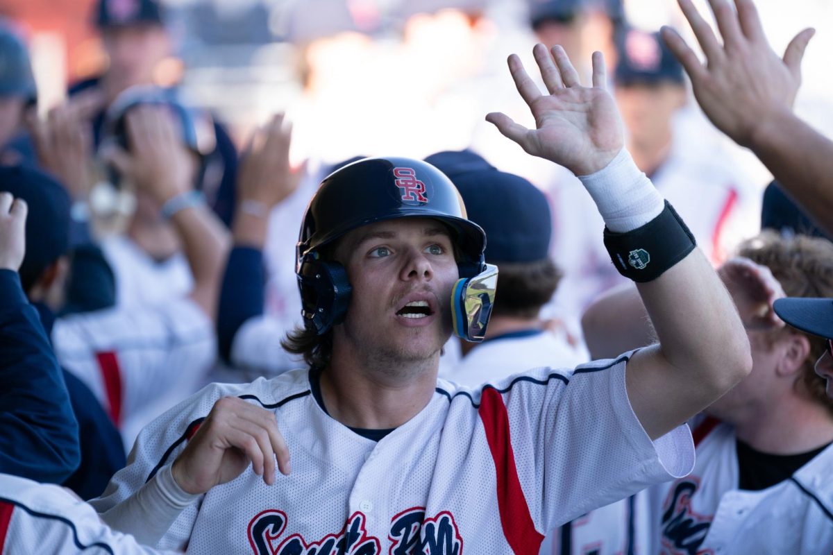
<path fill-rule="evenodd" d="M 563 50 L 538 45 L 535 54 L 550 94 L 516 56 L 509 65 L 540 127 L 502 114 L 488 121 L 585 176 L 611 226 L 613 260 L 631 260 L 622 271 L 641 280 L 662 349 L 581 366 L 571 378 L 543 368 L 481 389 L 437 380 L 452 330 L 486 334 L 496 269 L 483 260 L 485 235 L 436 168 L 358 161 L 323 181 L 302 225 L 306 325 L 285 344 L 310 368 L 212 384 L 149 425 L 94 502 L 107 523 L 147 531 L 143 499 L 161 498 L 158 476 L 171 473 L 193 503 L 165 511 L 170 528 L 154 531 L 166 530 L 162 547 L 536 553 L 546 530 L 688 472 L 691 439 L 680 424 L 747 374 L 741 322 L 623 150 L 601 55 L 594 87 L 581 87 Z M 659 245 L 639 231 L 656 226 Z"/>

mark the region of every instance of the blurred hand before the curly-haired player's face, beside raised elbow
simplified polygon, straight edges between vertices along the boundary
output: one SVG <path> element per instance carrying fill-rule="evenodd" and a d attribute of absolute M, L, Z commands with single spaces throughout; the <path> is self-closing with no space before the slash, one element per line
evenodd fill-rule
<path fill-rule="evenodd" d="M 747 330 L 766 330 L 784 325 L 772 305 L 776 299 L 786 295 L 769 268 L 736 256 L 726 260 L 717 274 L 735 301 Z"/>

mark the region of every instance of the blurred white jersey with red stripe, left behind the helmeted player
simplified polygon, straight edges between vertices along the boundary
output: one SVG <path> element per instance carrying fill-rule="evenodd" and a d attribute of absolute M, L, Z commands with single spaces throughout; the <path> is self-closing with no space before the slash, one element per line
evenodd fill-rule
<path fill-rule="evenodd" d="M 205 384 L 217 353 L 212 320 L 187 298 L 60 318 L 52 346 L 107 409 L 126 450 L 146 424 Z"/>

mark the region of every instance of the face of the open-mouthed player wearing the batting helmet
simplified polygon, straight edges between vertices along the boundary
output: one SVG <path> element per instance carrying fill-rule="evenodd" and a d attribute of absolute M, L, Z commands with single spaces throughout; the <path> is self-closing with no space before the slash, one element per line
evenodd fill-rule
<path fill-rule="evenodd" d="M 366 225 L 342 240 L 336 256 L 353 290 L 335 340 L 392 362 L 439 354 L 451 334 L 458 275 L 445 225 L 427 218 Z"/>

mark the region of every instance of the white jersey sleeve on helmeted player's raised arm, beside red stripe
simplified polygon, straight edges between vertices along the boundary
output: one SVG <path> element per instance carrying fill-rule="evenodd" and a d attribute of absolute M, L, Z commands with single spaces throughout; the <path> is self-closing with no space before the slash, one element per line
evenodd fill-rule
<path fill-rule="evenodd" d="M 627 358 L 582 364 L 572 376 L 541 369 L 501 390 L 518 478 L 539 531 L 694 467 L 686 424 L 656 441 L 642 428 L 627 398 Z"/>

